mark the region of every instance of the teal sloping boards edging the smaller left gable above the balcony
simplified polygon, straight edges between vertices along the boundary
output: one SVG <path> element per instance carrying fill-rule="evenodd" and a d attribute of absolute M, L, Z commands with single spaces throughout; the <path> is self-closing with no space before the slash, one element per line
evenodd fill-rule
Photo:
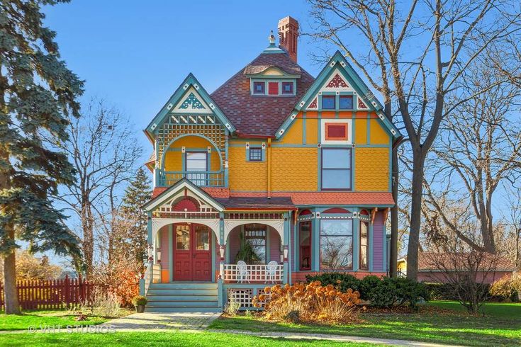
<path fill-rule="evenodd" d="M 188 85 L 188 88 L 185 89 L 184 86 L 186 86 L 186 85 Z M 195 85 L 197 85 L 198 88 L 195 88 Z M 186 76 L 186 79 L 184 79 L 183 83 L 181 83 L 181 85 L 179 85 L 179 87 L 176 89 L 176 91 L 174 91 L 172 96 L 170 96 L 167 103 L 165 103 L 164 106 L 161 108 L 161 110 L 159 110 L 159 112 L 152 119 L 150 124 L 147 125 L 145 131 L 150 135 L 150 137 L 155 138 L 155 130 L 157 130 L 157 128 L 159 127 L 159 124 L 162 123 L 162 121 L 165 118 L 167 118 L 167 116 L 169 115 L 170 110 L 168 109 L 168 105 L 170 103 L 172 103 L 172 105 L 176 105 L 177 103 L 179 103 L 181 98 L 184 98 L 184 95 L 190 89 L 190 86 L 194 86 L 194 88 L 197 90 L 199 96 L 201 96 L 203 101 L 205 101 L 208 105 L 212 104 L 214 106 L 213 113 L 215 113 L 215 115 L 220 120 L 220 122 L 223 123 L 223 125 L 226 126 L 226 124 L 228 124 L 228 126 L 227 126 L 228 130 L 230 130 L 231 132 L 236 131 L 233 124 L 230 122 L 230 120 L 228 120 L 228 118 L 226 118 L 225 114 L 223 113 L 222 110 L 220 110 L 220 108 L 217 106 L 217 104 L 213 101 L 210 94 L 208 94 L 208 92 L 206 91 L 206 89 L 204 89 L 202 84 L 199 83 L 199 81 L 196 79 L 194 74 L 190 73 L 188 76 Z M 156 127 L 155 127 L 155 129 L 152 129 L 152 125 L 154 125 L 154 124 L 156 125 Z"/>

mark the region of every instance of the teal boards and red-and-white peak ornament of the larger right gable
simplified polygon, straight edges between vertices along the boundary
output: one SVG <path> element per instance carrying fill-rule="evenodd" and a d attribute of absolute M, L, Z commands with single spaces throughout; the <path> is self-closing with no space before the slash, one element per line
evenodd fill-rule
<path fill-rule="evenodd" d="M 338 78 L 336 74 L 339 74 Z M 314 104 L 318 98 L 320 98 L 320 94 L 323 90 L 336 90 L 333 89 L 336 88 L 334 86 L 338 86 L 338 88 L 345 90 L 346 87 L 344 87 L 344 84 L 342 84 L 342 81 L 340 80 L 342 80 L 348 87 L 350 86 L 353 94 L 357 96 L 358 101 L 355 105 L 366 106 L 365 108 L 358 108 L 374 110 L 393 138 L 402 137 L 398 128 L 383 114 L 383 106 L 381 103 L 374 97 L 373 93 L 369 90 L 369 87 L 364 83 L 357 72 L 354 71 L 340 51 L 335 52 L 335 55 L 331 57 L 330 62 L 328 62 L 320 74 L 318 74 L 308 91 L 306 91 L 301 100 L 296 103 L 291 114 L 298 113 L 301 110 L 313 109 L 311 106 L 315 106 Z M 276 132 L 275 136 L 277 139 L 284 134 L 292 122 L 293 119 L 291 116 L 288 116 Z"/>

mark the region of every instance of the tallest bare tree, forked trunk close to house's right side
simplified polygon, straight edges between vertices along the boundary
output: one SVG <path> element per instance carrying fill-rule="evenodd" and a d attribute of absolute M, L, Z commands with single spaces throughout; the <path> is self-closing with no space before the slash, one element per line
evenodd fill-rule
<path fill-rule="evenodd" d="M 395 0 L 309 1 L 317 24 L 313 36 L 340 48 L 376 90 L 386 93 L 378 87 L 388 86 L 398 106 L 413 157 L 407 275 L 415 279 L 425 159 L 442 120 L 461 103 L 493 87 L 470 93 L 465 89 L 465 72 L 495 42 L 519 33 L 520 4 L 513 0 L 413 0 L 405 6 Z M 357 54 L 355 46 L 369 49 Z M 379 71 L 379 80 L 373 78 L 371 68 Z"/>

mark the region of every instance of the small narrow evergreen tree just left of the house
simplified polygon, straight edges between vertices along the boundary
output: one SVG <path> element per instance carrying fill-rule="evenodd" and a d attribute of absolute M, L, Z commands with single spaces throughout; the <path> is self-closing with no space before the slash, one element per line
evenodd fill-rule
<path fill-rule="evenodd" d="M 148 216 L 143 205 L 150 200 L 152 188 L 150 178 L 145 170 L 139 169 L 133 181 L 125 189 L 123 206 L 121 207 L 122 217 L 133 221 L 133 227 L 128 230 L 128 241 L 135 254 L 138 263 L 144 264 L 147 254 L 147 222 Z"/>

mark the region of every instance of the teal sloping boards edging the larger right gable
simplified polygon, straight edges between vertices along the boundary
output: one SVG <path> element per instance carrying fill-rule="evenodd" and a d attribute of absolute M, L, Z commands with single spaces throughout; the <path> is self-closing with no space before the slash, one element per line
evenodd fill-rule
<path fill-rule="evenodd" d="M 342 66 L 343 65 L 343 66 Z M 347 81 L 352 84 L 355 91 L 357 91 L 358 97 L 362 98 L 364 103 L 371 109 L 376 110 L 377 113 L 382 113 L 383 106 L 378 101 L 378 99 L 372 97 L 369 98 L 368 95 L 372 96 L 371 91 L 369 90 L 369 87 L 364 83 L 364 81 L 360 78 L 359 74 L 354 71 L 352 66 L 347 62 L 347 60 L 344 58 L 342 53 L 340 51 L 335 52 L 335 55 L 333 55 L 330 59 L 330 61 L 325 65 L 325 67 L 322 69 L 320 74 L 318 74 L 317 78 L 313 82 L 313 84 L 308 88 L 308 91 L 301 97 L 301 99 L 296 103 L 295 110 L 298 112 L 300 110 L 306 109 L 309 103 L 313 101 L 313 98 L 315 98 L 315 95 L 318 93 L 320 88 L 323 86 L 325 81 L 331 76 L 331 74 L 335 71 L 335 69 L 338 68 L 342 76 L 344 76 Z M 326 94 L 327 95 L 327 94 Z M 322 102 L 320 100 L 321 98 L 318 98 L 318 108 L 322 108 Z M 355 103 L 355 98 L 353 98 L 353 107 L 358 108 L 357 103 Z M 374 104 L 373 104 L 374 102 Z M 387 118 L 384 116 L 384 118 L 387 120 Z M 291 117 L 286 118 L 284 123 L 279 127 L 279 130 L 276 132 L 276 138 L 281 137 L 281 130 L 284 130 L 286 132 L 287 128 L 291 125 L 293 120 Z M 392 135 L 391 130 L 395 132 L 392 137 L 398 138 L 402 137 L 400 134 L 400 131 L 398 128 L 396 128 L 393 123 L 387 121 L 384 121 L 386 125 L 386 129 L 388 132 Z M 284 133 L 283 132 L 283 133 Z"/>

